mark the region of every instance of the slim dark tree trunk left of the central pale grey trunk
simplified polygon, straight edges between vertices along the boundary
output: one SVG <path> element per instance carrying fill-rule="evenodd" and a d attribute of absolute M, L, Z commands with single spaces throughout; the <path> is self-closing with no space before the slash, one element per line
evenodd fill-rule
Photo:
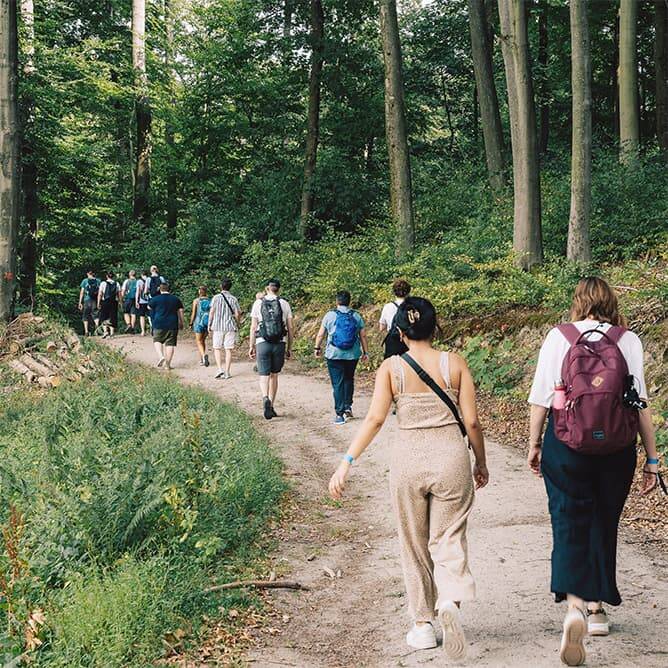
<path fill-rule="evenodd" d="M 320 138 L 320 83 L 325 51 L 325 19 L 321 0 L 311 0 L 311 74 L 308 85 L 308 128 L 299 228 L 302 238 L 309 234 L 309 222 L 315 204 L 315 169 Z"/>

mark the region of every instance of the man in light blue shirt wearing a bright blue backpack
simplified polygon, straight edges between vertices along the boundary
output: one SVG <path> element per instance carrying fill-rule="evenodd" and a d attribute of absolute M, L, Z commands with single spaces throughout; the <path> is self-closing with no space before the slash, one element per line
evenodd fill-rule
<path fill-rule="evenodd" d="M 355 369 L 360 358 L 368 359 L 369 346 L 362 316 L 350 308 L 350 292 L 336 295 L 336 308 L 328 311 L 315 338 L 315 356 L 322 355 L 322 341 L 327 336 L 325 359 L 334 390 L 334 424 L 345 424 L 353 417 Z"/>

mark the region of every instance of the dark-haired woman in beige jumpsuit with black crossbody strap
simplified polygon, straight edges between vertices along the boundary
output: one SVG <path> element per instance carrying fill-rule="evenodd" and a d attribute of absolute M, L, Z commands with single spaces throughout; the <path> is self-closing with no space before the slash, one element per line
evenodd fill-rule
<path fill-rule="evenodd" d="M 395 401 L 400 435 L 391 447 L 390 494 L 413 619 L 406 642 L 416 649 L 436 647 L 436 614 L 446 654 L 461 659 L 466 641 L 459 605 L 475 597 L 466 524 L 474 485 L 481 488 L 489 480 L 475 387 L 459 355 L 432 347 L 436 312 L 428 300 L 409 297 L 400 306 L 395 323 L 409 355 L 457 404 L 475 457 L 473 471 L 452 411 L 405 360 L 395 356 L 378 370 L 369 412 L 332 476 L 329 490 L 334 498 L 341 497 L 352 462 L 380 431 Z"/>

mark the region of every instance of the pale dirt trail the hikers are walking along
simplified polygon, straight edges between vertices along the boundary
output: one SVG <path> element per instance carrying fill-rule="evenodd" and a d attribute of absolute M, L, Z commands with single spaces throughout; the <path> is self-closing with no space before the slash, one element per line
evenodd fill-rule
<path fill-rule="evenodd" d="M 148 338 L 120 337 L 113 344 L 128 359 L 154 364 Z M 355 464 L 341 508 L 327 501 L 326 484 L 359 422 L 331 423 L 329 385 L 293 373 L 281 375 L 276 403 L 280 419 L 260 417 L 257 377 L 248 363 L 236 363 L 234 377 L 213 378 L 198 366 L 189 341 L 179 344 L 176 368 L 184 382 L 214 391 L 224 401 L 257 415 L 285 461 L 300 508 L 283 534 L 275 556 L 278 572 L 310 585 L 309 592 L 272 593 L 288 619 L 267 637 L 248 661 L 253 666 L 391 667 L 445 665 L 439 650 L 411 651 L 398 549 L 387 490 L 387 452 L 396 429 L 390 417 L 361 461 Z M 367 395 L 355 410 L 363 415 Z M 558 666 L 563 606 L 549 594 L 551 536 L 542 482 L 521 456 L 488 444 L 490 485 L 476 499 L 469 544 L 478 600 L 467 604 L 467 664 L 476 666 Z M 624 534 L 620 540 L 619 581 L 624 604 L 612 610 L 613 633 L 587 642 L 589 666 L 668 665 L 664 626 L 668 608 L 668 555 L 651 559 Z M 341 570 L 331 579 L 324 571 Z"/>

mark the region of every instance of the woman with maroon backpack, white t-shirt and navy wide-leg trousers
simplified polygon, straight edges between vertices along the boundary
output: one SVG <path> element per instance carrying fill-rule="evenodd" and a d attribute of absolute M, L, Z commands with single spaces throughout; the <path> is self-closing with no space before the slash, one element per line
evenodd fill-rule
<path fill-rule="evenodd" d="M 548 333 L 538 357 L 529 395 L 528 462 L 542 474 L 549 499 L 551 590 L 557 602 L 568 601 L 560 658 L 579 666 L 585 635 L 608 635 L 603 602 L 621 603 L 617 529 L 635 472 L 638 434 L 647 457 L 642 493 L 653 490 L 660 476 L 642 343 L 625 329 L 612 288 L 600 278 L 582 279 L 571 320 Z"/>

